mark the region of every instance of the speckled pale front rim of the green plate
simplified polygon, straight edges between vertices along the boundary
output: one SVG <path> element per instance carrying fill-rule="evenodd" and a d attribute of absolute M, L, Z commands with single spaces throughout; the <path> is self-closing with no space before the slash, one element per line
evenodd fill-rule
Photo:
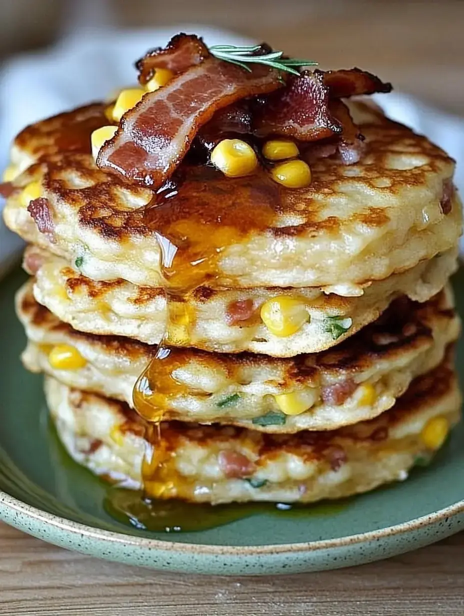
<path fill-rule="evenodd" d="M 112 561 L 191 573 L 259 575 L 335 569 L 429 545 L 464 528 L 464 500 L 379 530 L 265 546 L 171 542 L 96 529 L 30 506 L 2 490 L 0 519 L 54 545 Z"/>

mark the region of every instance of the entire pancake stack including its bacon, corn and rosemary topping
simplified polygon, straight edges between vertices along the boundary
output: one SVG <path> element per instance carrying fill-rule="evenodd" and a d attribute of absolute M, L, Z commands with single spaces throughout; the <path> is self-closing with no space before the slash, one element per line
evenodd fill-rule
<path fill-rule="evenodd" d="M 12 145 L 23 363 L 134 498 L 367 492 L 460 419 L 454 161 L 369 102 L 390 84 L 309 64 L 179 34 Z"/>

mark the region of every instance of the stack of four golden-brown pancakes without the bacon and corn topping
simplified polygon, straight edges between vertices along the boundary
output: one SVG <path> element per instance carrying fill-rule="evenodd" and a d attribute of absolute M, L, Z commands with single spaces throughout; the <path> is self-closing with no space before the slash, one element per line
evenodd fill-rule
<path fill-rule="evenodd" d="M 105 105 L 18 135 L 4 217 L 29 243 L 23 362 L 75 460 L 159 498 L 310 502 L 405 479 L 441 447 L 460 413 L 454 162 L 350 108 L 359 163 L 316 160 L 272 227 L 218 252 L 214 286 L 169 301 L 152 191 L 91 154 Z M 171 351 L 147 370 L 168 312 Z"/>

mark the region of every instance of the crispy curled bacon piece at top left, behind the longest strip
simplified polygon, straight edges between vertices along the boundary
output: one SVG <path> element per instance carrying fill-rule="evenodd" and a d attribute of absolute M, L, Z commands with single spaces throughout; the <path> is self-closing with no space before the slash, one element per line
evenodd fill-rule
<path fill-rule="evenodd" d="M 168 68 L 176 74 L 183 73 L 187 68 L 203 62 L 208 55 L 208 47 L 195 34 L 176 34 L 166 47 L 151 49 L 136 62 L 139 81 L 142 85 L 147 83 L 157 68 Z"/>

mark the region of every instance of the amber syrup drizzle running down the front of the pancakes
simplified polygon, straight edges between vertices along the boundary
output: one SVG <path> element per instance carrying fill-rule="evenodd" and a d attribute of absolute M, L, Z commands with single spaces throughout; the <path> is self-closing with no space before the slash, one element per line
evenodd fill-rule
<path fill-rule="evenodd" d="M 137 413 L 158 425 L 170 400 L 188 392 L 173 376 L 182 354 L 171 353 L 169 345 L 185 346 L 192 339 L 193 291 L 214 286 L 225 249 L 272 227 L 284 207 L 282 187 L 262 168 L 252 176 L 227 178 L 205 164 L 184 165 L 176 175 L 175 185 L 158 192 L 145 211 L 145 224 L 160 245 L 166 327 L 157 354 L 137 380 L 133 400 Z M 181 495 L 185 480 L 175 470 L 175 447 L 169 451 L 160 432 L 148 430 L 147 437 L 152 458 L 142 468 L 145 495 Z"/>

